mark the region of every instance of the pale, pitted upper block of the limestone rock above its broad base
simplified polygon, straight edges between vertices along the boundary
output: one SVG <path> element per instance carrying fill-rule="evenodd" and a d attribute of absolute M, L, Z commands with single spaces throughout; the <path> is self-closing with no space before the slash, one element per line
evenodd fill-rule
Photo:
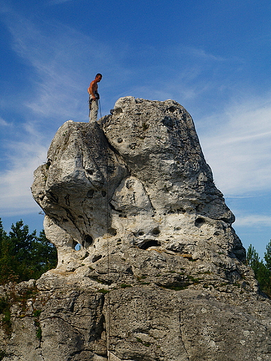
<path fill-rule="evenodd" d="M 192 117 L 176 101 L 126 96 L 98 123 L 67 121 L 32 192 L 58 267 L 75 257 L 76 244 L 79 260 L 86 251 L 86 262 L 105 255 L 108 239 L 110 252 L 121 243 L 192 256 L 206 240 L 207 249 L 245 257 Z"/>

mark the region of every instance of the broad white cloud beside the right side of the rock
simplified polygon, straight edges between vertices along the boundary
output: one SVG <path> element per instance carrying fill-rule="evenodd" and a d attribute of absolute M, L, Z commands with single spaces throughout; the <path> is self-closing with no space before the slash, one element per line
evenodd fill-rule
<path fill-rule="evenodd" d="M 216 118 L 216 119 L 214 119 Z M 227 196 L 271 190 L 271 100 L 229 106 L 201 124 L 200 141 L 217 187 Z"/>

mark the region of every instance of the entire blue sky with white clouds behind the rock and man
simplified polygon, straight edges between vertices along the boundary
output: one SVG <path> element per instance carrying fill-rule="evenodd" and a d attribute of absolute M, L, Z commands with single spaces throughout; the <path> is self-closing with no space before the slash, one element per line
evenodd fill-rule
<path fill-rule="evenodd" d="M 42 228 L 33 171 L 68 119 L 120 96 L 174 99 L 192 115 L 245 248 L 271 239 L 271 2 L 1 0 L 0 217 Z"/>

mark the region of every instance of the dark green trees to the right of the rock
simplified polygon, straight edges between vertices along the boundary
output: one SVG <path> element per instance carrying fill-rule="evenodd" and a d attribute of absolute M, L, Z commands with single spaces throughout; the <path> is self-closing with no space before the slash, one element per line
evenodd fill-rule
<path fill-rule="evenodd" d="M 263 258 L 264 261 L 260 260 L 258 253 L 250 244 L 247 249 L 247 265 L 252 267 L 261 291 L 271 298 L 271 240 L 266 246 Z"/>

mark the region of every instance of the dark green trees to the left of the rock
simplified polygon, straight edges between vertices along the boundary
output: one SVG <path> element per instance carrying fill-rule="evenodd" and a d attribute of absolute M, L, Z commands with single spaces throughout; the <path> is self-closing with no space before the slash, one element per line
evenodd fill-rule
<path fill-rule="evenodd" d="M 29 233 L 22 220 L 10 228 L 6 233 L 0 218 L 0 285 L 38 279 L 56 267 L 56 247 L 47 240 L 44 230 L 39 236 L 35 230 Z"/>

